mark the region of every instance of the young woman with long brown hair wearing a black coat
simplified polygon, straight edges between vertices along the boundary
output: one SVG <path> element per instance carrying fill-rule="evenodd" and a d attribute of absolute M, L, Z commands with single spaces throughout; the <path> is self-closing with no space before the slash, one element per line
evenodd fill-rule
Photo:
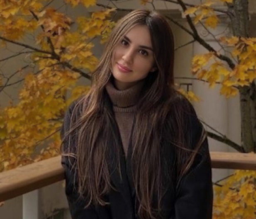
<path fill-rule="evenodd" d="M 195 110 L 173 87 L 173 34 L 135 10 L 113 29 L 90 92 L 61 136 L 73 219 L 210 219 L 211 163 Z"/>

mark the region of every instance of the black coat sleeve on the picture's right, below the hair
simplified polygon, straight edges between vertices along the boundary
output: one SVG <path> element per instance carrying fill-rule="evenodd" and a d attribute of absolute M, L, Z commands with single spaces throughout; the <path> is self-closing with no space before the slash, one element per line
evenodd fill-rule
<path fill-rule="evenodd" d="M 193 144 L 198 141 L 202 124 L 193 119 Z M 190 170 L 183 176 L 176 190 L 174 219 L 212 218 L 212 169 L 207 138 L 203 141 L 200 154 Z"/>

